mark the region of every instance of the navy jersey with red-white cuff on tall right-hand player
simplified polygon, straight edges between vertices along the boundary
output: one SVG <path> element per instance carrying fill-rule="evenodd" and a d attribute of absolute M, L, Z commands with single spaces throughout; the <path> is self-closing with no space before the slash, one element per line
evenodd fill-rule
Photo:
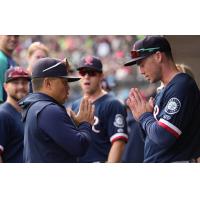
<path fill-rule="evenodd" d="M 154 114 L 140 122 L 146 132 L 145 162 L 188 161 L 200 156 L 200 92 L 187 74 L 177 74 L 155 98 Z"/>

